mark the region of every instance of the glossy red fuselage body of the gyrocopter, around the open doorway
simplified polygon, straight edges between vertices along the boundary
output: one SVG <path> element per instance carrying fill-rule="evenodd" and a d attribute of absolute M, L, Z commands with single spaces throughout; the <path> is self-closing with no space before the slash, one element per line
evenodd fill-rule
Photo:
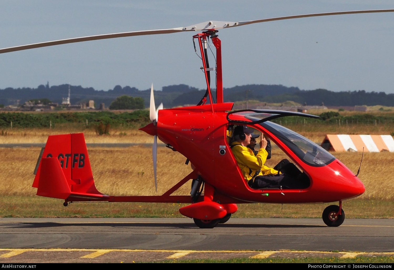
<path fill-rule="evenodd" d="M 233 103 L 214 104 L 214 113 L 211 105 L 160 110 L 157 124 L 151 123 L 142 130 L 150 135 L 158 135 L 162 142 L 170 144 L 187 157 L 203 180 L 214 187 L 213 201 L 333 202 L 364 193 L 365 187 L 362 182 L 338 159 L 323 167 L 308 165 L 260 125 L 251 127 L 268 135 L 309 176 L 310 186 L 307 189 L 296 190 L 251 189 L 243 179 L 227 142 L 229 122 L 226 111 L 231 110 L 232 105 Z"/>

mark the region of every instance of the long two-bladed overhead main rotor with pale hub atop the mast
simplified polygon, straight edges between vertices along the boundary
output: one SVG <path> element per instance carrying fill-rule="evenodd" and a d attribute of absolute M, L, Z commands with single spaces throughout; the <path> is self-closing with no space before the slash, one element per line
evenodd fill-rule
<path fill-rule="evenodd" d="M 161 30 L 123 32 L 123 33 L 104 34 L 104 35 L 97 35 L 97 36 L 86 36 L 86 37 L 81 37 L 81 38 L 69 38 L 69 39 L 60 39 L 60 40 L 55 40 L 55 41 L 34 43 L 34 44 L 29 44 L 29 45 L 22 45 L 22 46 L 0 49 L 0 54 L 1 53 L 10 53 L 10 52 L 15 52 L 15 51 L 23 51 L 23 50 L 34 49 L 34 48 L 48 47 L 48 46 L 54 46 L 54 45 L 61 45 L 61 44 L 67 44 L 67 43 L 99 40 L 99 39 L 123 38 L 123 37 L 131 37 L 131 36 L 144 36 L 144 35 L 157 35 L 157 34 L 171 34 L 171 33 L 178 33 L 178 32 L 204 31 L 204 30 L 212 30 L 212 29 L 218 30 L 218 29 L 230 28 L 230 27 L 235 27 L 235 26 L 242 26 L 242 25 L 253 24 L 253 23 L 265 23 L 265 22 L 270 22 L 270 21 L 281 21 L 281 20 L 287 20 L 287 19 L 320 17 L 320 16 L 329 16 L 329 15 L 358 14 L 358 13 L 382 13 L 382 12 L 394 12 L 394 9 L 375 9 L 375 10 L 356 10 L 356 11 L 313 13 L 313 14 L 276 17 L 276 18 L 270 18 L 270 19 L 243 21 L 243 22 L 208 21 L 208 22 L 194 24 L 194 25 L 186 26 L 186 27 L 161 29 Z"/>

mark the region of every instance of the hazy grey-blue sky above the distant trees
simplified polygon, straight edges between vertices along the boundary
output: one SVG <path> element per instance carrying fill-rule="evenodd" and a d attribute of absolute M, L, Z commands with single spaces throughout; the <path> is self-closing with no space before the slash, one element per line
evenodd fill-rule
<path fill-rule="evenodd" d="M 0 48 L 80 36 L 393 9 L 392 0 L 1 0 Z M 193 32 L 87 41 L 0 54 L 0 89 L 67 84 L 205 88 Z M 335 15 L 219 30 L 223 86 L 394 93 L 394 13 Z M 212 46 L 212 48 L 214 48 Z M 213 50 L 214 51 L 214 50 Z M 210 54 L 210 64 L 214 59 Z"/>

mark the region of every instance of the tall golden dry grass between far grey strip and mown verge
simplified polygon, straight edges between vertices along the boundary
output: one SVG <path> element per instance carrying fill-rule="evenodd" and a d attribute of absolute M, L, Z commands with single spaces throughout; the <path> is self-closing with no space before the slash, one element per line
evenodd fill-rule
<path fill-rule="evenodd" d="M 191 172 L 185 165 L 185 157 L 165 147 L 158 148 L 158 193 L 154 190 L 151 148 L 132 146 L 128 148 L 89 148 L 89 158 L 96 187 L 109 195 L 157 195 L 175 185 Z M 33 170 L 40 148 L 2 148 L 0 152 L 0 195 L 31 196 Z M 357 172 L 361 153 L 344 152 L 335 156 L 351 171 Z M 274 166 L 287 156 L 275 148 L 268 166 Z M 392 164 L 394 154 L 390 152 L 364 153 L 359 178 L 366 187 L 360 199 L 394 200 Z M 189 184 L 174 195 L 186 195 Z"/>

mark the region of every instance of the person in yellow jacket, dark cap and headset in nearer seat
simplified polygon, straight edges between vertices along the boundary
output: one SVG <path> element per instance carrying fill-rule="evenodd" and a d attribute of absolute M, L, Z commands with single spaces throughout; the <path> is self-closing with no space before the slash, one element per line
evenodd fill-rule
<path fill-rule="evenodd" d="M 232 136 L 233 142 L 231 143 L 231 150 L 247 184 L 254 189 L 266 187 L 301 188 L 300 183 L 292 176 L 281 174 L 279 171 L 264 165 L 268 157 L 266 150 L 268 141 L 264 136 L 261 137 L 260 150 L 256 155 L 251 148 L 247 147 L 251 142 L 252 133 L 253 129 L 247 126 L 236 126 Z"/>

